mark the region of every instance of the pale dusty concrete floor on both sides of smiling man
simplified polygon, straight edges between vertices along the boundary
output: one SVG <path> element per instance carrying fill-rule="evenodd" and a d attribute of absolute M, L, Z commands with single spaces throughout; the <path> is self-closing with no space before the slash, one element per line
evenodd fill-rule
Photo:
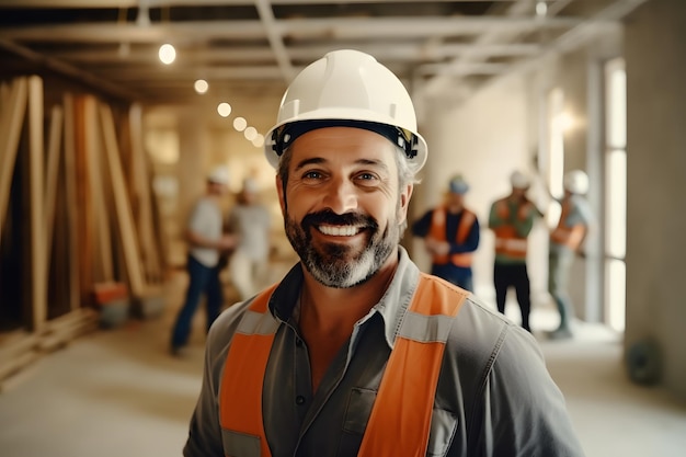
<path fill-rule="evenodd" d="M 82 336 L 22 372 L 0 393 L 0 456 L 180 456 L 204 339 L 198 313 L 188 354 L 167 354 L 184 287 L 170 289 L 164 316 Z M 531 324 L 552 328 L 553 319 L 537 309 Z M 686 455 L 686 404 L 629 382 L 616 335 L 584 325 L 575 341 L 541 339 L 541 347 L 588 457 Z"/>

